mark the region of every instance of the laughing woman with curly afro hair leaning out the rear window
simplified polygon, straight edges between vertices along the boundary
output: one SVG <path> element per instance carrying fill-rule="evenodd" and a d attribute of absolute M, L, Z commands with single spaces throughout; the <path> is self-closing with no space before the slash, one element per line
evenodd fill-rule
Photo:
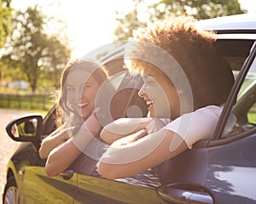
<path fill-rule="evenodd" d="M 214 49 L 212 31 L 191 17 L 158 21 L 134 33 L 126 65 L 143 74 L 149 118 L 122 118 L 102 129 L 110 145 L 97 171 L 125 178 L 211 139 L 234 77 Z"/>

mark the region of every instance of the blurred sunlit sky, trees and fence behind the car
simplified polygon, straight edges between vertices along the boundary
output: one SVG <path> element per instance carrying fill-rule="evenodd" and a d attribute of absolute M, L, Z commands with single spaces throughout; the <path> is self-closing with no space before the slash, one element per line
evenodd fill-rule
<path fill-rule="evenodd" d="M 254 0 L 0 0 L 0 109 L 48 111 L 68 59 L 129 40 L 155 20 L 251 12 Z"/>

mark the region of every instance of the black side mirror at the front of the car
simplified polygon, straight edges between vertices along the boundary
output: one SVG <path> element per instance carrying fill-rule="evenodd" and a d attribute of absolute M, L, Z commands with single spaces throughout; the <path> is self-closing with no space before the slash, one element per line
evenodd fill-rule
<path fill-rule="evenodd" d="M 43 130 L 43 117 L 41 115 L 21 116 L 6 127 L 6 132 L 15 141 L 35 142 L 40 139 Z"/>

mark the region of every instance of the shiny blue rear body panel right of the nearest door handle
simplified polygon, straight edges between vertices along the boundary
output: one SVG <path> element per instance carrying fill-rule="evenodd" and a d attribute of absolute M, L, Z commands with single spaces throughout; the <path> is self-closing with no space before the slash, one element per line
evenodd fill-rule
<path fill-rule="evenodd" d="M 205 186 L 218 203 L 256 203 L 255 146 L 256 133 L 209 148 Z"/>

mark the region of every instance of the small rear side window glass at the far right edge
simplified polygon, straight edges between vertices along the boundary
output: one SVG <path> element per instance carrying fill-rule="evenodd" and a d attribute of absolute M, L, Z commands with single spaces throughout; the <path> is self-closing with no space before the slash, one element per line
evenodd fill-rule
<path fill-rule="evenodd" d="M 256 125 L 256 59 L 237 95 L 229 120 L 224 128 L 223 137 L 241 133 Z"/>

